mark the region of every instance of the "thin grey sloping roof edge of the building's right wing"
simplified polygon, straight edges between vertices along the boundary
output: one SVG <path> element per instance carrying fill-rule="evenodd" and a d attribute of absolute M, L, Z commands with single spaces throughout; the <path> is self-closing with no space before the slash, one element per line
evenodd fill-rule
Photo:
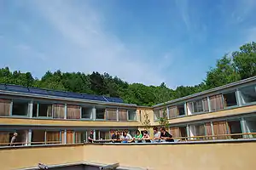
<path fill-rule="evenodd" d="M 243 80 L 238 81 L 238 82 L 231 82 L 230 84 L 226 84 L 226 85 L 220 86 L 218 88 L 212 88 L 212 89 L 209 89 L 209 90 L 197 93 L 197 94 L 191 94 L 191 95 L 185 96 L 183 98 L 172 99 L 172 100 L 167 101 L 165 103 L 160 103 L 160 104 L 157 104 L 157 105 L 153 105 L 153 107 L 160 107 L 160 106 L 163 106 L 163 105 L 169 105 L 169 104 L 177 103 L 177 102 L 183 101 L 185 99 L 191 99 L 191 98 L 199 97 L 201 95 L 211 94 L 211 93 L 217 92 L 218 90 L 223 90 L 225 88 L 233 88 L 233 87 L 236 87 L 238 85 L 241 85 L 241 84 L 244 84 L 244 83 L 247 83 L 247 82 L 253 82 L 253 81 L 256 81 L 256 77 L 249 77 L 247 79 L 243 79 Z"/>

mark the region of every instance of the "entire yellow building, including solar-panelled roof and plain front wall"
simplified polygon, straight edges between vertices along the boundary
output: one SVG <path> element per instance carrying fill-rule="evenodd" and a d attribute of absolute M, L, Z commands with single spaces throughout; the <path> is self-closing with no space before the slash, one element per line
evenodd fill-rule
<path fill-rule="evenodd" d="M 256 77 L 144 107 L 121 99 L 0 84 L 1 169 L 254 169 Z M 88 144 L 113 130 L 160 126 L 166 113 L 174 143 Z M 9 147 L 13 133 L 16 146 Z M 150 129 L 152 133 L 152 130 Z M 101 141 L 101 140 L 100 140 Z M 169 162 L 169 163 L 168 163 Z"/>

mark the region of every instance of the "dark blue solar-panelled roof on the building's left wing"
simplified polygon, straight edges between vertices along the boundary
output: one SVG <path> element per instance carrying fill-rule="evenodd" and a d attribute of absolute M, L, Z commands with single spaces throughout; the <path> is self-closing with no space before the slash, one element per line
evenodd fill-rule
<path fill-rule="evenodd" d="M 94 95 L 94 94 L 79 94 L 79 93 L 56 91 L 56 90 L 43 89 L 43 88 L 29 88 L 29 87 L 24 87 L 19 85 L 10 85 L 10 84 L 3 84 L 3 83 L 0 83 L 0 90 L 8 91 L 8 92 L 19 92 L 23 94 L 40 94 L 44 96 L 96 100 L 96 101 L 112 102 L 112 103 L 119 103 L 119 104 L 124 103 L 123 99 L 120 99 L 120 98 L 112 98 L 112 97 Z"/>

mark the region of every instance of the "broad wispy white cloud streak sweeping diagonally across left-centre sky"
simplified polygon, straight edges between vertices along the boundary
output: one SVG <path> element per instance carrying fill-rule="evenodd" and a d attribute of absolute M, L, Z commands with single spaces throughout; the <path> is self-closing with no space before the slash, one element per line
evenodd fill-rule
<path fill-rule="evenodd" d="M 71 1 L 31 1 L 30 5 L 67 40 L 55 44 L 66 44 L 61 48 L 73 54 L 62 59 L 62 66 L 73 68 L 73 71 L 106 71 L 128 82 L 159 85 L 165 81 L 160 69 L 140 59 L 141 53 L 105 31 L 104 19 L 96 8 L 87 4 L 81 10 Z M 68 48 L 68 44 L 75 48 Z"/>

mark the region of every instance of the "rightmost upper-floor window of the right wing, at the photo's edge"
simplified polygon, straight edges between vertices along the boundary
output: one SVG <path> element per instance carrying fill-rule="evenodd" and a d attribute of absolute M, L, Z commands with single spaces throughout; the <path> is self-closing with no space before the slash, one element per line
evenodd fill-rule
<path fill-rule="evenodd" d="M 252 103 L 256 101 L 255 86 L 241 88 L 240 92 L 241 92 L 241 102 L 243 104 Z"/>

